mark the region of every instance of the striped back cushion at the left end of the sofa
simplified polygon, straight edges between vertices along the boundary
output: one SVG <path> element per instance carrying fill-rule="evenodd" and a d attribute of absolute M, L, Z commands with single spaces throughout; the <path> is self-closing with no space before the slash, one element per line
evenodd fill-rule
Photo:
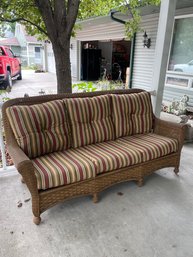
<path fill-rule="evenodd" d="M 64 102 L 55 100 L 7 108 L 7 116 L 20 148 L 29 158 L 70 147 Z"/>

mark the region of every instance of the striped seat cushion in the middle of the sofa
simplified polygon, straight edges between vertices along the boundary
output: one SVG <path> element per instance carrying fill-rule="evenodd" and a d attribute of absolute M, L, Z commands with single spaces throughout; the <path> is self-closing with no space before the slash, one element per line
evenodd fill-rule
<path fill-rule="evenodd" d="M 142 162 L 142 155 L 137 148 L 129 148 L 117 141 L 79 147 L 76 151 L 98 163 L 98 174 Z"/>

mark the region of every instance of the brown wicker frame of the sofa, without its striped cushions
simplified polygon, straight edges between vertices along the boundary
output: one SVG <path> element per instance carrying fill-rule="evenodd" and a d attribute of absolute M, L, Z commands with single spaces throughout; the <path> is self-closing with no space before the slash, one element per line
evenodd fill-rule
<path fill-rule="evenodd" d="M 37 180 L 34 172 L 34 167 L 31 160 L 19 148 L 12 129 L 10 127 L 6 108 L 13 105 L 32 105 L 38 103 L 48 102 L 54 99 L 63 99 L 70 97 L 91 97 L 103 94 L 130 94 L 142 92 L 140 89 L 129 90 L 115 90 L 92 93 L 77 93 L 77 94 L 60 94 L 60 95 L 46 95 L 38 97 L 17 98 L 7 101 L 2 108 L 3 122 L 5 128 L 5 137 L 8 145 L 9 153 L 14 161 L 15 167 L 21 174 L 25 181 L 31 196 L 32 196 L 32 211 L 34 214 L 34 223 L 39 224 L 41 221 L 40 214 L 51 206 L 77 196 L 92 195 L 93 202 L 98 201 L 98 193 L 111 185 L 135 180 L 139 186 L 143 185 L 144 177 L 153 173 L 154 171 L 164 167 L 174 167 L 174 172 L 179 172 L 180 153 L 184 141 L 185 126 L 183 124 L 174 124 L 166 122 L 154 117 L 153 131 L 156 134 L 175 138 L 179 142 L 179 150 L 176 153 L 154 159 L 131 167 L 114 170 L 98 175 L 97 177 L 74 183 L 71 185 L 60 186 L 53 189 L 38 190 Z"/>

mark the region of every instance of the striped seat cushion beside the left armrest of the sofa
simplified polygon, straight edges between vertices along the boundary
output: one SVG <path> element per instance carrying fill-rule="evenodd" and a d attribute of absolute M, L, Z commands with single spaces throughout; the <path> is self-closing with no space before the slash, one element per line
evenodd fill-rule
<path fill-rule="evenodd" d="M 95 162 L 74 149 L 55 152 L 32 160 L 38 189 L 48 189 L 94 178 Z"/>

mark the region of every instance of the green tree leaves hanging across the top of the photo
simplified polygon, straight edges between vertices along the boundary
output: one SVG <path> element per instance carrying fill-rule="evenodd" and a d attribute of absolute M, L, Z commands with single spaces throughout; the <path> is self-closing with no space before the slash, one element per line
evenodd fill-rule
<path fill-rule="evenodd" d="M 54 13 L 55 1 L 49 1 L 54 17 L 56 16 Z M 47 37 L 47 30 L 36 2 L 36 0 L 1 0 L 0 22 L 18 21 L 26 26 L 26 30 L 30 35 L 38 35 L 39 39 L 45 39 Z M 140 24 L 140 13 L 137 8 L 145 5 L 159 5 L 160 2 L 160 0 L 81 0 L 77 18 L 86 19 L 108 15 L 111 9 L 127 13 L 129 4 L 129 12 L 133 18 L 126 23 L 125 28 L 126 36 L 132 38 L 133 34 L 139 29 Z M 71 8 L 74 8 L 74 6 L 72 5 Z M 75 30 L 76 28 L 73 29 L 73 35 L 75 35 Z"/>

